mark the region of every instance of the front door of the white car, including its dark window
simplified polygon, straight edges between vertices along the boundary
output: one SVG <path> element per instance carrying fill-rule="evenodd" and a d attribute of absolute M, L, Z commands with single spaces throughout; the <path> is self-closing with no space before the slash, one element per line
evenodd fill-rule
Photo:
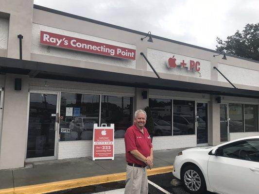
<path fill-rule="evenodd" d="M 259 139 L 219 147 L 208 160 L 210 187 L 222 194 L 259 193 Z"/>

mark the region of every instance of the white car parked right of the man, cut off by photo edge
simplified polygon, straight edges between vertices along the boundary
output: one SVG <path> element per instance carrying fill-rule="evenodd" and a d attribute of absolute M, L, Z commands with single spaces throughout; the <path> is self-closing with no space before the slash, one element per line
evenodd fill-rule
<path fill-rule="evenodd" d="M 259 194 L 259 136 L 186 149 L 175 158 L 173 176 L 190 194 Z"/>

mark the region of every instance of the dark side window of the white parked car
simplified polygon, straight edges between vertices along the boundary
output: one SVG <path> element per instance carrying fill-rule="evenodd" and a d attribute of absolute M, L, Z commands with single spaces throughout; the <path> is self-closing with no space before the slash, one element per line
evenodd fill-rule
<path fill-rule="evenodd" d="M 220 156 L 259 162 L 259 140 L 244 140 L 220 148 Z"/>

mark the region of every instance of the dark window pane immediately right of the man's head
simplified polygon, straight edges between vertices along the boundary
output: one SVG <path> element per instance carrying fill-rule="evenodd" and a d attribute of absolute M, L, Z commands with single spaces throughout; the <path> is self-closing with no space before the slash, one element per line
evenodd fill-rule
<path fill-rule="evenodd" d="M 154 119 L 154 136 L 172 135 L 172 100 L 149 98 L 149 108 Z"/>

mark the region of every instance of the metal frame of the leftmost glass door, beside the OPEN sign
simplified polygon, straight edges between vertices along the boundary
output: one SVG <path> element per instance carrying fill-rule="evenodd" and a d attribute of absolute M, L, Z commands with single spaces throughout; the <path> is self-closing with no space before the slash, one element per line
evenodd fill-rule
<path fill-rule="evenodd" d="M 52 91 L 41 91 L 41 90 L 30 90 L 28 95 L 28 111 L 27 111 L 27 138 L 26 138 L 26 146 L 25 146 L 25 162 L 36 162 L 36 161 L 46 161 L 46 160 L 56 160 L 58 156 L 58 133 L 59 133 L 59 123 L 55 122 L 55 145 L 54 145 L 54 156 L 47 157 L 37 157 L 37 158 L 26 158 L 27 156 L 27 142 L 28 142 L 28 130 L 29 130 L 29 112 L 30 112 L 30 98 L 31 94 L 53 94 L 57 95 L 57 103 L 56 103 L 56 113 L 59 115 L 60 110 L 60 92 L 52 92 Z"/>

